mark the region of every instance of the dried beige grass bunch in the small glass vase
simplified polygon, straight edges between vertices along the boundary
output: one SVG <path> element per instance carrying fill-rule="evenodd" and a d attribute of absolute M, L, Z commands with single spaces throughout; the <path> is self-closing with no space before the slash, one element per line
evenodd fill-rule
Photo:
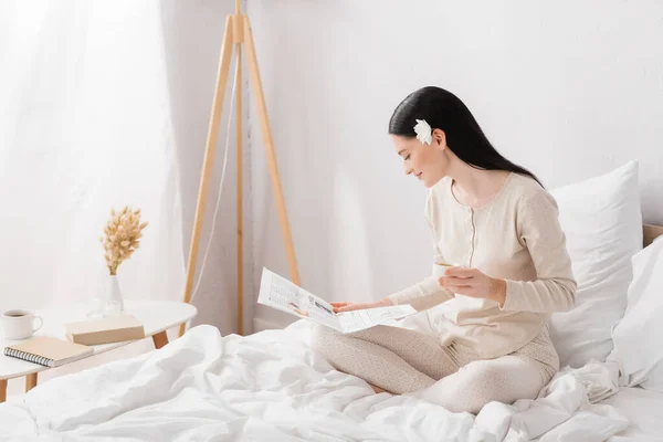
<path fill-rule="evenodd" d="M 118 212 L 110 209 L 110 220 L 104 228 L 101 242 L 104 244 L 106 266 L 112 275 L 117 275 L 119 264 L 131 257 L 138 249 L 146 227 L 147 222 L 140 223 L 140 209 L 125 207 Z"/>

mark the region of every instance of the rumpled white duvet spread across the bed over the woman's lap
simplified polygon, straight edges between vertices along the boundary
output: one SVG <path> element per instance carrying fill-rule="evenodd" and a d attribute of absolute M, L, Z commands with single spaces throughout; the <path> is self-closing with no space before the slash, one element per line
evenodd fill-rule
<path fill-rule="evenodd" d="M 309 324 L 221 337 L 198 326 L 160 350 L 40 385 L 0 406 L 17 441 L 603 441 L 627 428 L 610 366 L 566 370 L 536 400 L 474 417 L 375 394 L 306 341 Z"/>

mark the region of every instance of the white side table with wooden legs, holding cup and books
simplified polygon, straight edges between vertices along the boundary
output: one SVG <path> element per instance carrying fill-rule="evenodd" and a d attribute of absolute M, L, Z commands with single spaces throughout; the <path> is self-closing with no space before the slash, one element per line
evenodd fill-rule
<path fill-rule="evenodd" d="M 136 316 L 136 318 L 143 323 L 145 337 L 151 336 L 156 348 L 161 348 L 168 344 L 167 329 L 186 323 L 197 314 L 196 307 L 191 304 L 175 301 L 126 301 L 125 311 Z M 62 339 L 66 339 L 64 324 L 86 319 L 84 305 L 72 305 L 56 309 L 40 309 L 35 311 L 35 315 L 41 316 L 44 322 L 42 328 L 35 334 L 36 336 L 54 336 Z M 88 357 L 135 341 L 136 340 L 126 340 L 93 346 L 94 352 Z M 50 369 L 50 367 L 44 367 L 39 364 L 4 356 L 4 347 L 15 343 L 18 343 L 18 340 L 2 341 L 0 351 L 0 402 L 7 400 L 8 379 L 25 376 L 25 391 L 29 391 L 36 386 L 36 373 Z"/>

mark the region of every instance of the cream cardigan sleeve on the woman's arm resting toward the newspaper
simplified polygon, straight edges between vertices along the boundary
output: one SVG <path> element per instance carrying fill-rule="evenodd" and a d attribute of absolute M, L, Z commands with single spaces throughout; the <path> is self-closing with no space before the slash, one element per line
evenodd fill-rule
<path fill-rule="evenodd" d="M 453 292 L 443 288 L 438 283 L 438 277 L 432 273 L 432 266 L 436 261 L 444 261 L 438 244 L 436 234 L 431 222 L 432 194 L 429 191 L 425 200 L 424 218 L 433 235 L 433 263 L 431 263 L 431 275 L 400 292 L 387 296 L 393 305 L 409 304 L 418 312 L 434 307 L 454 297 Z"/>

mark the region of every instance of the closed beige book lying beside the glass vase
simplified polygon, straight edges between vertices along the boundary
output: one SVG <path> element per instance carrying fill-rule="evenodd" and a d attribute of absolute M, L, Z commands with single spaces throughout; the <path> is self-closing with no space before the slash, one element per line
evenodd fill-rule
<path fill-rule="evenodd" d="M 98 345 L 143 339 L 143 324 L 127 313 L 64 325 L 66 337 L 76 344 Z"/>

